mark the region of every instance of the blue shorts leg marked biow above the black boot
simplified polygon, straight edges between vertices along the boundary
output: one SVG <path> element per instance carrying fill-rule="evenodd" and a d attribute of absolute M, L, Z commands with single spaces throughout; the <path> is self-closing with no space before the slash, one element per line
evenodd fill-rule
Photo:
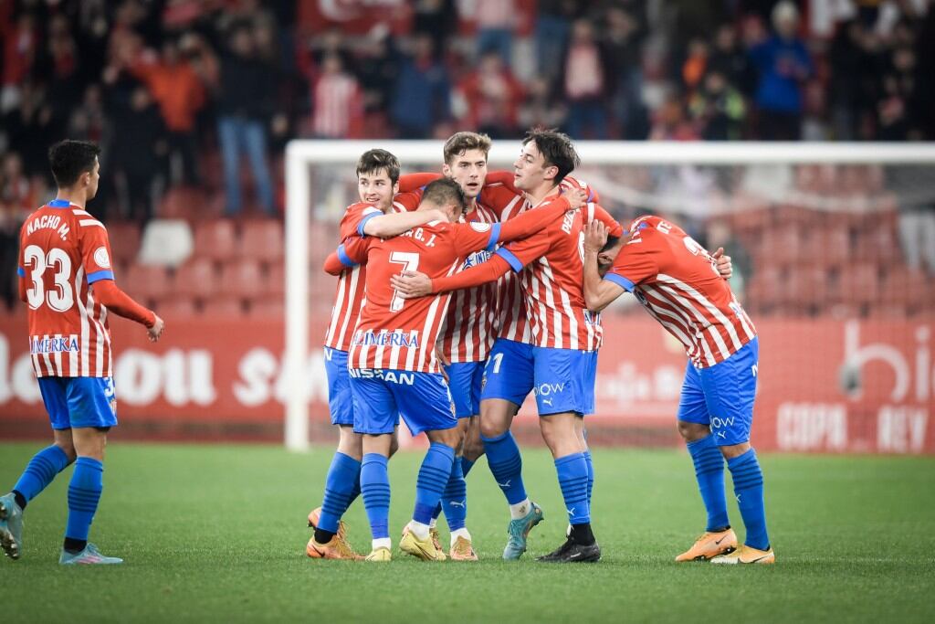
<path fill-rule="evenodd" d="M 533 347 L 532 356 L 540 416 L 594 414 L 597 351 Z"/>

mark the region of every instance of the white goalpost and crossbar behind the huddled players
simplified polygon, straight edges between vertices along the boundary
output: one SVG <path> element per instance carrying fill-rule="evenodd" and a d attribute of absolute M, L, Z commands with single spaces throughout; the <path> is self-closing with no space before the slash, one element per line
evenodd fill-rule
<path fill-rule="evenodd" d="M 935 144 L 931 143 L 759 143 L 759 142 L 625 142 L 578 141 L 584 180 L 604 196 L 644 197 L 618 183 L 613 175 L 596 176 L 592 167 L 749 167 L 776 165 L 923 165 L 931 167 L 928 178 L 931 199 L 935 201 Z M 329 300 L 332 291 L 309 292 L 309 227 L 316 209 L 316 167 L 332 167 L 338 173 L 331 180 L 343 189 L 347 203 L 351 196 L 353 167 L 360 154 L 374 148 L 393 152 L 404 171 L 440 171 L 442 141 L 408 140 L 294 140 L 286 148 L 285 182 L 285 354 L 286 388 L 285 445 L 292 450 L 309 448 L 309 296 Z M 491 168 L 509 168 L 520 143 L 515 139 L 496 141 L 490 152 Z M 338 183 L 339 180 L 339 183 Z M 602 183 L 606 182 L 606 187 Z M 334 190 L 334 189 L 332 189 Z M 927 191 L 928 193 L 928 191 Z M 619 195 L 619 196 L 618 196 Z M 332 202 L 334 203 L 334 202 Z M 652 205 L 652 204 L 650 204 Z M 334 246 L 338 245 L 334 241 Z"/>

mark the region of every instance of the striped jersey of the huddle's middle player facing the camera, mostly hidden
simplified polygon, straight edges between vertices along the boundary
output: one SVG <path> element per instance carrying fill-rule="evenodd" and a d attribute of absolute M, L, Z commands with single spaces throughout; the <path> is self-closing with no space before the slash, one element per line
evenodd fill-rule
<path fill-rule="evenodd" d="M 496 212 L 478 202 L 462 223 L 495 224 Z M 486 262 L 491 253 L 481 250 L 469 254 L 462 269 Z M 456 290 L 451 294 L 448 314 L 441 328 L 439 346 L 452 363 L 482 362 L 487 359 L 496 339 L 496 282 Z"/>

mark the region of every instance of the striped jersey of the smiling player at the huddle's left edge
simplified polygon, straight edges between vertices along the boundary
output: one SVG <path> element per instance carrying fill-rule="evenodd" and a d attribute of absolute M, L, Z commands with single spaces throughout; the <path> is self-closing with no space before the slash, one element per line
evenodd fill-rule
<path fill-rule="evenodd" d="M 418 202 L 416 202 L 416 206 Z M 394 201 L 394 212 L 414 210 L 404 202 Z M 341 241 L 355 236 L 364 235 L 364 224 L 367 220 L 383 212 L 367 203 L 357 203 L 348 206 L 341 217 L 339 235 Z M 348 351 L 351 348 L 353 328 L 357 325 L 361 308 L 364 305 L 364 285 L 367 281 L 367 267 L 357 266 L 347 268 L 338 275 L 338 288 L 335 293 L 335 304 L 331 308 L 331 321 L 324 333 L 324 346 L 338 351 Z"/>

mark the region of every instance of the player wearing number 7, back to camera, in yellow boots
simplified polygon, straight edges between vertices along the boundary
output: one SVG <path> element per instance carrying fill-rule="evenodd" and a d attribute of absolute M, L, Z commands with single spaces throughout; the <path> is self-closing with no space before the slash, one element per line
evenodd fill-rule
<path fill-rule="evenodd" d="M 454 449 L 462 442 L 435 349 L 449 297 L 406 301 L 391 285 L 391 277 L 416 269 L 434 277 L 451 275 L 469 254 L 492 250 L 501 240 L 532 235 L 582 201 L 583 194 L 560 197 L 540 213 L 509 224 L 450 223 L 466 209 L 464 192 L 455 181 L 434 181 L 425 188 L 419 210 L 443 210 L 444 222 L 417 227 L 393 239 L 354 240 L 337 254 L 343 262 L 367 261 L 368 268 L 367 300 L 348 364 L 354 431 L 364 435 L 361 490 L 373 536 L 367 560 L 391 559 L 387 459 L 398 416 L 402 415 L 413 436 L 424 431 L 431 443 L 419 471 L 412 521 L 399 544 L 420 559 L 445 557 L 431 539 L 429 523 L 452 479 Z M 334 261 L 334 256 L 329 257 L 329 263 Z"/>

